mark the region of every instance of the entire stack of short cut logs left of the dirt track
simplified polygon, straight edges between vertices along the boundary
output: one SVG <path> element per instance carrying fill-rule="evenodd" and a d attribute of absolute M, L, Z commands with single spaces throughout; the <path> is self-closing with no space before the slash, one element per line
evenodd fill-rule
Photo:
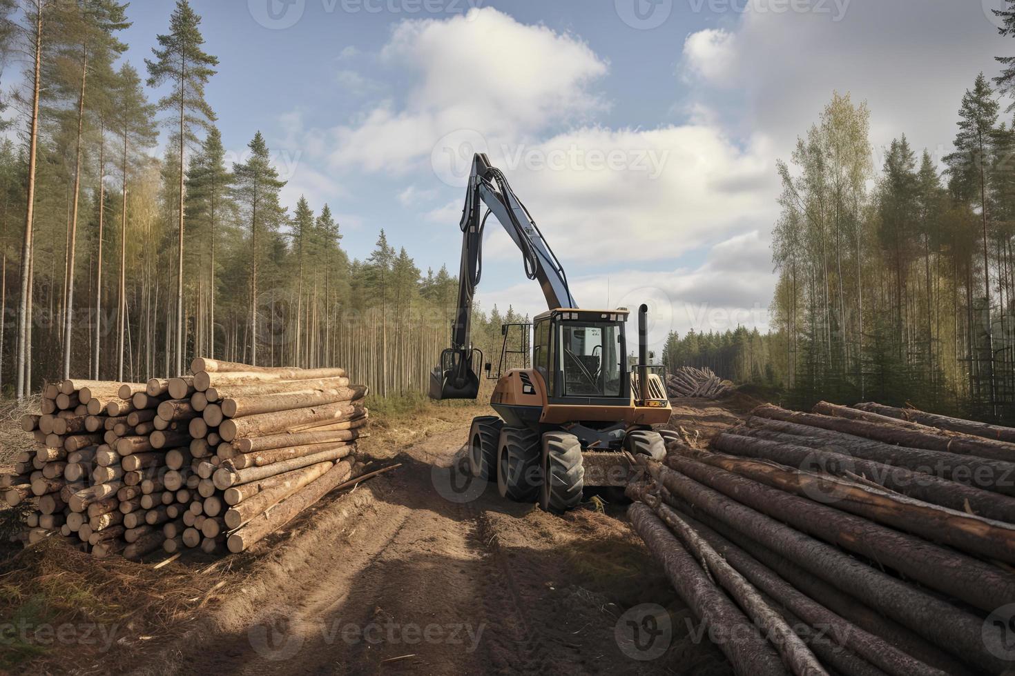
<path fill-rule="evenodd" d="M 37 449 L 0 476 L 28 541 L 59 531 L 95 556 L 242 551 L 351 480 L 366 388 L 343 369 L 197 359 L 147 383 L 48 385 L 22 429 Z"/>

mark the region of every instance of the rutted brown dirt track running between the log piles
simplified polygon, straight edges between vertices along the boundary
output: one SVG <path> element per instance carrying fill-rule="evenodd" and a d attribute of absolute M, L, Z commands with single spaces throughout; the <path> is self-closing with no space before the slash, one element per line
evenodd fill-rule
<path fill-rule="evenodd" d="M 503 501 L 460 471 L 467 432 L 399 449 L 401 468 L 259 543 L 241 589 L 147 671 L 728 673 L 684 635 L 693 618 L 624 508 L 556 517 Z M 649 603 L 667 606 L 672 637 L 639 661 L 616 627 L 655 628 Z"/>

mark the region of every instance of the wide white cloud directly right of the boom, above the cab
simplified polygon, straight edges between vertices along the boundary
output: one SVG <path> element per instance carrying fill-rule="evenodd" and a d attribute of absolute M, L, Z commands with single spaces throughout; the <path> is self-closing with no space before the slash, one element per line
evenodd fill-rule
<path fill-rule="evenodd" d="M 763 228 L 777 195 L 770 148 L 741 147 L 715 127 L 581 128 L 527 149 L 547 161 L 515 165 L 490 148 L 566 267 L 675 257 L 718 238 Z M 576 151 L 562 168 L 550 158 Z M 624 158 L 600 167 L 594 155 Z"/>

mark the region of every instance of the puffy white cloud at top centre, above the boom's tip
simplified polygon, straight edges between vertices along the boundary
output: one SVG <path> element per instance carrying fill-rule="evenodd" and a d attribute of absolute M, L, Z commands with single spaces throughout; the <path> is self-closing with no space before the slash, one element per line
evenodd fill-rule
<path fill-rule="evenodd" d="M 492 7 L 403 21 L 381 61 L 415 84 L 404 100 L 333 130 L 336 167 L 404 172 L 424 165 L 438 139 L 458 130 L 518 142 L 603 107 L 591 85 L 607 64 L 585 43 Z"/>

